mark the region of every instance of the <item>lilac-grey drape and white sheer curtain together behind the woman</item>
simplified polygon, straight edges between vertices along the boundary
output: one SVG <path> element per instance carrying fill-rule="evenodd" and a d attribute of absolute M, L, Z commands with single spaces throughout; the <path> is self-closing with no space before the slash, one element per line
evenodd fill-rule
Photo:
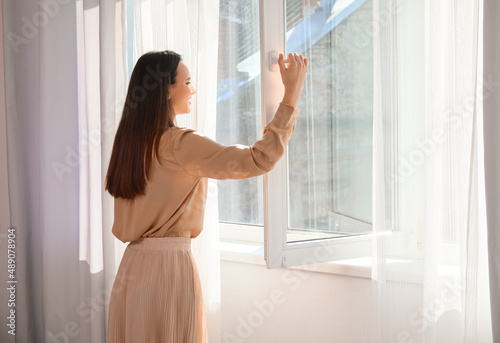
<path fill-rule="evenodd" d="M 18 283 L 16 336 L 2 330 L 2 342 L 105 342 L 125 245 L 111 233 L 104 181 L 129 67 L 149 50 L 181 53 L 203 91 L 179 124 L 214 137 L 218 11 L 218 1 L 3 2 Z M 216 192 L 210 184 L 205 229 L 193 242 L 211 342 L 220 340 Z"/>

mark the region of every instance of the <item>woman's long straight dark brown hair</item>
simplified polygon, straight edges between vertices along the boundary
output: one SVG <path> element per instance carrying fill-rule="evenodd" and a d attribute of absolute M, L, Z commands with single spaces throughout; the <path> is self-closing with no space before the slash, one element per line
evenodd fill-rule
<path fill-rule="evenodd" d="M 114 197 L 144 194 L 153 151 L 158 156 L 161 135 L 174 126 L 169 86 L 180 61 L 166 50 L 148 52 L 135 64 L 106 175 L 106 190 Z"/>

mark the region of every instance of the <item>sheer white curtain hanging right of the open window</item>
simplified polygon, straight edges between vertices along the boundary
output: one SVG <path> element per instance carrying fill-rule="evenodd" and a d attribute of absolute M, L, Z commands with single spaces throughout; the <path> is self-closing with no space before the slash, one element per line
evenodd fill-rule
<path fill-rule="evenodd" d="M 376 335 L 491 342 L 482 1 L 375 0 L 374 14 Z"/>

